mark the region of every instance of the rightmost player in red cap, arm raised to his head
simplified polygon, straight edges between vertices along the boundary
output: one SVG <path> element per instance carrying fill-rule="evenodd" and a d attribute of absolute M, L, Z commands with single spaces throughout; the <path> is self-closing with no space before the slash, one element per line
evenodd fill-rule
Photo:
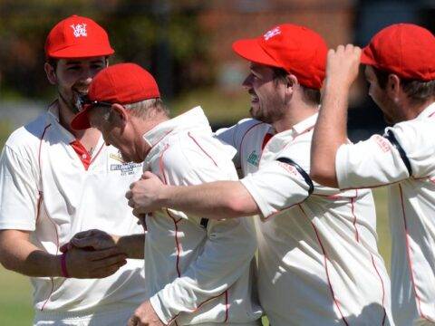
<path fill-rule="evenodd" d="M 328 53 L 314 131 L 312 176 L 347 188 L 389 186 L 392 312 L 396 325 L 435 323 L 435 37 L 393 24 L 362 50 Z M 349 88 L 365 64 L 369 95 L 392 127 L 348 144 Z"/>

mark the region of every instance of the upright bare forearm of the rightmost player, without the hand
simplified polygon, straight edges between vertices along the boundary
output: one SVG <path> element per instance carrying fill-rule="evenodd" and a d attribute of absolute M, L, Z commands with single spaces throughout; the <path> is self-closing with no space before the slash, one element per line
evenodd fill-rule
<path fill-rule="evenodd" d="M 337 187 L 335 156 L 347 141 L 348 88 L 326 81 L 324 99 L 314 128 L 311 177 L 325 186 Z"/>

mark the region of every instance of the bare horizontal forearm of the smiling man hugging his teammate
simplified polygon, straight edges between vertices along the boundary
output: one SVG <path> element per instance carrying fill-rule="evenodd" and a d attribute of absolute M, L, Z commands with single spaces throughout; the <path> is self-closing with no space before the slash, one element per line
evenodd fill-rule
<path fill-rule="evenodd" d="M 160 206 L 212 219 L 252 216 L 256 202 L 239 181 L 217 181 L 198 186 L 164 187 Z"/>

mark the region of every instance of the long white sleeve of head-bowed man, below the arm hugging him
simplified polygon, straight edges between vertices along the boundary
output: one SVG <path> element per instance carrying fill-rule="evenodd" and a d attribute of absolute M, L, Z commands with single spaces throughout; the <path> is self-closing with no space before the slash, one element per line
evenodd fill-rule
<path fill-rule="evenodd" d="M 164 323 L 180 312 L 195 312 L 227 291 L 245 273 L 256 252 L 255 230 L 247 218 L 210 221 L 204 251 L 186 273 L 150 298 Z"/>

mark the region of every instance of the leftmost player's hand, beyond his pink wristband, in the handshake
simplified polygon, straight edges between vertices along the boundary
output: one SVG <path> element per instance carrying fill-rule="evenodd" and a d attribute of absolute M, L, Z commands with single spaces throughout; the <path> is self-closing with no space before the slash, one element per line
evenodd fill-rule
<path fill-rule="evenodd" d="M 127 264 L 126 258 L 116 247 L 98 251 L 72 247 L 66 253 L 66 270 L 73 278 L 104 278 Z"/>

